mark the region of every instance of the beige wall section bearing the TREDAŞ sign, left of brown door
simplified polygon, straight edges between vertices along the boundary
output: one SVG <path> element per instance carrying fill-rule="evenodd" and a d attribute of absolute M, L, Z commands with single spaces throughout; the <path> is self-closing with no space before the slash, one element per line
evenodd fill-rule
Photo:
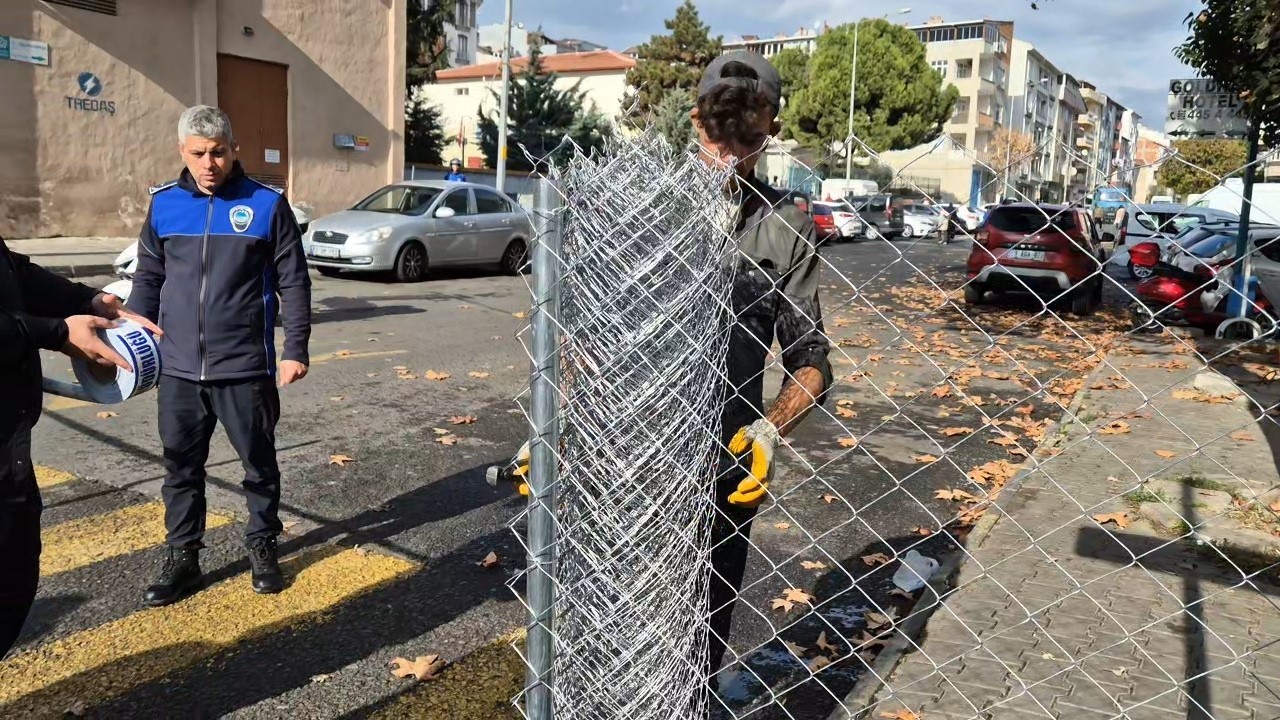
<path fill-rule="evenodd" d="M 20 168 L 0 181 L 0 234 L 137 232 L 147 186 L 180 167 L 173 118 L 195 101 L 189 3 L 120 3 L 115 18 L 33 1 L 0 5 L 0 35 L 50 45 L 49 67 L 0 63 L 0 149 L 6 165 L 17 158 Z M 100 78 L 93 100 L 113 102 L 114 114 L 68 106 L 68 97 L 87 99 L 77 85 L 82 72 Z M 20 110 L 12 111 L 9 99 Z"/>

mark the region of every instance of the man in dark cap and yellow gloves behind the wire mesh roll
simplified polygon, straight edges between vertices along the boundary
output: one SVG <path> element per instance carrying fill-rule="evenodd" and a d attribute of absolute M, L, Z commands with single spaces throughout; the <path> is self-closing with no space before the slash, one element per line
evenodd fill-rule
<path fill-rule="evenodd" d="M 700 154 L 732 164 L 739 197 L 736 322 L 728 347 L 728 401 L 716 516 L 712 527 L 709 653 L 707 674 L 724 656 L 733 603 L 746 570 L 751 520 L 768 493 L 773 451 L 820 404 L 832 374 L 818 305 L 818 254 L 813 220 L 755 177 L 769 138 L 781 131 L 782 78 L 763 55 L 730 53 L 707 68 L 692 110 Z M 764 370 L 777 340 L 782 389 L 764 406 Z"/>

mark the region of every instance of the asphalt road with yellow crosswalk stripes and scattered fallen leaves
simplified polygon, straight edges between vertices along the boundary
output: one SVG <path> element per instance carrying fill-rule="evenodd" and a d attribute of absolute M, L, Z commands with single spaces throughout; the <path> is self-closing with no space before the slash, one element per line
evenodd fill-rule
<path fill-rule="evenodd" d="M 909 607 L 890 594 L 897 564 L 863 557 L 954 552 L 964 532 L 942 530 L 963 507 L 938 491 L 993 491 L 969 470 L 1033 452 L 1112 329 L 1106 316 L 1062 322 L 1029 300 L 940 307 L 963 282 L 966 252 L 928 241 L 824 249 L 841 380 L 780 452 L 774 501 L 754 524 L 726 706 L 750 707 L 769 687 L 791 716 L 826 717 L 861 673 L 852 653 L 874 651 L 844 638 L 868 626 L 868 611 Z M 20 653 L 0 664 L 0 715 L 509 716 L 520 661 L 507 642 L 524 615 L 507 587 L 522 565 L 508 523 L 521 500 L 483 474 L 527 434 L 517 405 L 526 279 L 314 281 L 312 368 L 283 391 L 278 430 L 293 587 L 274 600 L 248 592 L 241 471 L 219 433 L 209 479 L 221 520 L 202 557 L 211 587 L 140 610 L 163 542 L 155 397 L 111 416 L 46 398 L 35 446 L 46 466 L 46 565 L 50 552 L 56 565 L 44 571 Z M 47 359 L 47 375 L 67 373 Z M 771 377 L 776 388 L 781 374 Z M 460 416 L 475 421 L 451 424 Z M 457 442 L 438 442 L 440 430 Z M 1005 436 L 1014 439 L 989 442 Z M 333 455 L 353 460 L 334 465 Z M 497 568 L 480 566 L 489 552 Z M 786 588 L 812 593 L 813 609 L 774 610 Z M 838 650 L 815 648 L 823 632 Z M 454 666 L 424 685 L 388 670 L 394 657 L 428 655 Z M 842 660 L 812 675 L 820 655 Z"/>

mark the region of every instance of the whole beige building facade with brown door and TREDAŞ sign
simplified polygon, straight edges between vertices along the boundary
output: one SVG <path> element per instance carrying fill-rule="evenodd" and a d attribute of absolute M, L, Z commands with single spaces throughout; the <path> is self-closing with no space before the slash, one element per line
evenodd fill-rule
<path fill-rule="evenodd" d="M 47 50 L 0 60 L 0 236 L 137 233 L 196 104 L 316 213 L 402 172 L 404 0 L 6 0 L 0 35 Z"/>

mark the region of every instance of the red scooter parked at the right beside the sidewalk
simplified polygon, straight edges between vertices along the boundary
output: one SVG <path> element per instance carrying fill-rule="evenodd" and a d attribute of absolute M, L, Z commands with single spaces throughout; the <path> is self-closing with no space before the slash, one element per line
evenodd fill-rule
<path fill-rule="evenodd" d="M 1135 266 L 1152 270 L 1151 277 L 1138 283 L 1138 301 L 1129 307 L 1137 329 L 1160 332 L 1164 325 L 1188 325 L 1212 334 L 1230 316 L 1234 252 L 1196 261 L 1189 270 L 1161 261 L 1160 246 L 1155 242 L 1134 245 L 1129 254 Z M 1256 275 L 1249 277 L 1248 300 L 1248 318 L 1258 325 L 1260 336 L 1272 334 L 1275 311 Z"/>

